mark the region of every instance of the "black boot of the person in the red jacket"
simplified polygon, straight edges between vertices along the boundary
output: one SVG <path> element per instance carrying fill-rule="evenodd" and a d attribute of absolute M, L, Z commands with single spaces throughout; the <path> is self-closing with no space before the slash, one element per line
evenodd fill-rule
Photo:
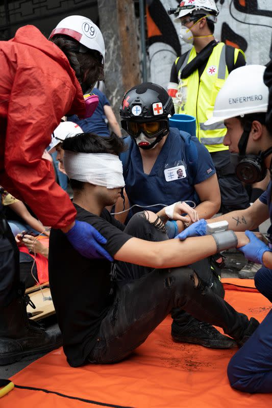
<path fill-rule="evenodd" d="M 62 345 L 60 330 L 45 330 L 27 317 L 23 296 L 14 299 L 0 315 L 0 365 L 24 356 L 46 353 Z"/>

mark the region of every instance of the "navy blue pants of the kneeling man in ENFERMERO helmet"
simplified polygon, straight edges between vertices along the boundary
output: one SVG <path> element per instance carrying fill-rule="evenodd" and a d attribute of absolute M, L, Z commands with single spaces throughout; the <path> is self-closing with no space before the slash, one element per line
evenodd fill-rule
<path fill-rule="evenodd" d="M 255 286 L 272 301 L 272 270 L 261 268 Z M 251 338 L 234 354 L 228 366 L 233 388 L 251 393 L 272 393 L 272 310 Z"/>

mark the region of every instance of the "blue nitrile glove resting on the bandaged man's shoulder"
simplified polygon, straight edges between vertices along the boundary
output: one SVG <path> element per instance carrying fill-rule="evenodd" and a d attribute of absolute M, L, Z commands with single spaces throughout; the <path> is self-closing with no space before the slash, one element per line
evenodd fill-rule
<path fill-rule="evenodd" d="M 107 240 L 93 226 L 85 221 L 75 221 L 75 225 L 65 233 L 68 241 L 83 256 L 89 259 L 106 258 L 113 261 L 110 254 L 100 244 Z"/>

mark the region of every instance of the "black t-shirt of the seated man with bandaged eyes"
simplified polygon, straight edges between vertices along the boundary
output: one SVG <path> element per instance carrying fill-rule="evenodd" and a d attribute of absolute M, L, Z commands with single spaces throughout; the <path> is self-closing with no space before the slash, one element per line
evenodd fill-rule
<path fill-rule="evenodd" d="M 107 210 L 101 217 L 75 204 L 77 220 L 93 225 L 106 239 L 113 257 L 130 235 Z M 63 349 L 72 367 L 83 364 L 94 347 L 101 321 L 113 301 L 111 262 L 82 257 L 60 230 L 52 230 L 49 244 L 51 293 L 63 335 Z"/>

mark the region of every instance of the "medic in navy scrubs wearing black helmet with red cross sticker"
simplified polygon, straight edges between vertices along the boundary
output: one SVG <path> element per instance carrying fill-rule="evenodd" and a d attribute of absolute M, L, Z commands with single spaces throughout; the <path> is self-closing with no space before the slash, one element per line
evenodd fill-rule
<path fill-rule="evenodd" d="M 132 138 L 126 157 L 121 157 L 130 205 L 158 212 L 176 201 L 193 201 L 199 218 L 212 217 L 220 207 L 220 191 L 211 156 L 195 137 L 196 152 L 190 164 L 186 143 L 176 128 L 169 129 L 168 115 L 174 114 L 171 97 L 153 83 L 137 85 L 125 93 L 120 108 L 121 125 Z M 127 143 L 129 142 L 127 139 Z M 183 176 L 180 177 L 181 170 Z M 179 174 L 178 174 L 179 171 Z M 132 213 L 141 211 L 134 207 Z M 167 224 L 169 238 L 184 225 Z M 176 227 L 176 228 L 175 228 Z"/>

